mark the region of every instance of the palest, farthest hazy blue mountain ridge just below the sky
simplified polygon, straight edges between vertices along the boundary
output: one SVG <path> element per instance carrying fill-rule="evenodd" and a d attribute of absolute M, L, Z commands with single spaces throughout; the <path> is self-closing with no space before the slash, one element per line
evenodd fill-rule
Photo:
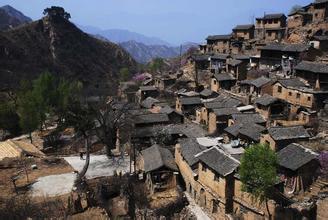
<path fill-rule="evenodd" d="M 165 45 L 172 46 L 170 43 L 157 37 L 148 37 L 139 33 L 122 29 L 102 30 L 93 26 L 79 26 L 81 30 L 92 35 L 100 35 L 114 43 L 122 43 L 126 41 L 136 41 L 146 45 Z"/>

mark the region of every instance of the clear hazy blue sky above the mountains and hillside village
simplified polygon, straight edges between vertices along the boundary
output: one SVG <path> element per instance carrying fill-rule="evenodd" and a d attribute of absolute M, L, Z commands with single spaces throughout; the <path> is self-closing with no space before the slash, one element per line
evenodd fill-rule
<path fill-rule="evenodd" d="M 314 0 L 312 0 L 314 1 Z M 32 19 L 44 8 L 62 6 L 80 25 L 127 29 L 173 44 L 203 42 L 209 34 L 230 33 L 266 13 L 288 14 L 311 0 L 0 0 Z"/>

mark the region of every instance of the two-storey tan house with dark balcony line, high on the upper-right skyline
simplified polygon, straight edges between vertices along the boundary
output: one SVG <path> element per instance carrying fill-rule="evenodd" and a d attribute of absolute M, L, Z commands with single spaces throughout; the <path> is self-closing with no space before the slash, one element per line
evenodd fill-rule
<path fill-rule="evenodd" d="M 266 14 L 256 18 L 255 37 L 265 41 L 282 40 L 286 32 L 286 19 L 284 14 Z"/>

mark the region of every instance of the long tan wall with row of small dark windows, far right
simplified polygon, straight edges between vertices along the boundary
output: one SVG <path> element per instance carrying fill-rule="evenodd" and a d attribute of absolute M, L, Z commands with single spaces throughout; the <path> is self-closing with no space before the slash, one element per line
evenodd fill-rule
<path fill-rule="evenodd" d="M 281 92 L 279 92 L 280 88 Z M 313 94 L 285 88 L 279 82 L 273 85 L 272 96 L 282 100 L 286 100 L 287 102 L 293 105 L 304 106 L 308 108 L 314 107 Z"/>

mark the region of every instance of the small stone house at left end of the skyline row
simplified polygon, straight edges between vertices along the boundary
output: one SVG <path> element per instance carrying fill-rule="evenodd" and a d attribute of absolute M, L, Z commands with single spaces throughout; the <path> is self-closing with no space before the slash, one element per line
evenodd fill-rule
<path fill-rule="evenodd" d="M 230 53 L 232 35 L 212 35 L 206 38 L 207 50 L 212 53 Z"/>

